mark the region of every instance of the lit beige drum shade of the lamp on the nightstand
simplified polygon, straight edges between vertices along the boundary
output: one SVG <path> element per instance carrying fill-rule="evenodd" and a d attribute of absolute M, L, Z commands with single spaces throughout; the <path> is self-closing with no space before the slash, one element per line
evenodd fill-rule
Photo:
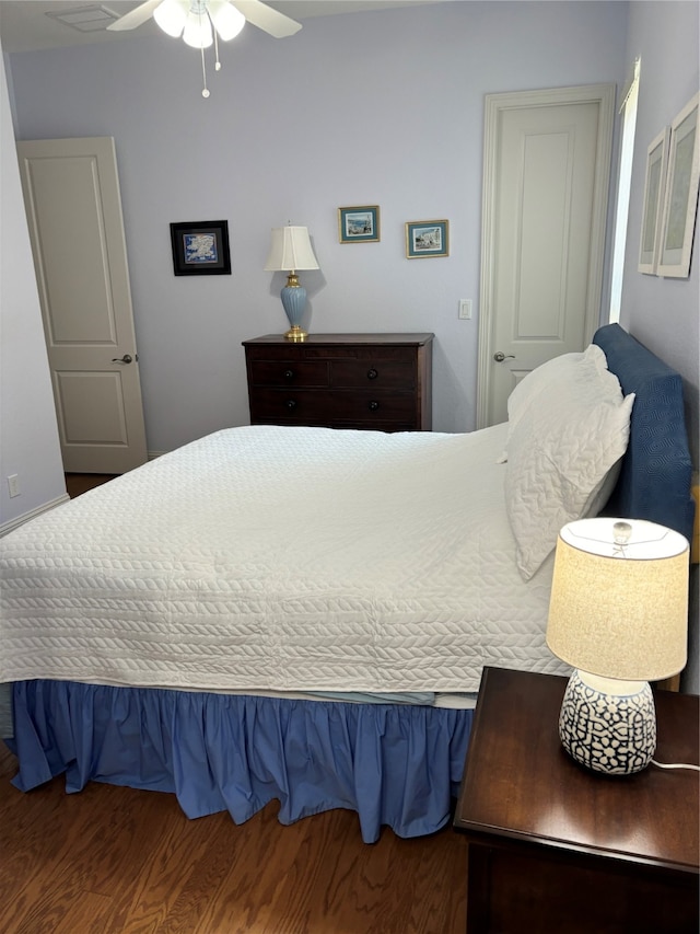
<path fill-rule="evenodd" d="M 655 681 L 687 659 L 689 546 L 654 522 L 582 519 L 559 533 L 547 645 L 592 674 Z"/>

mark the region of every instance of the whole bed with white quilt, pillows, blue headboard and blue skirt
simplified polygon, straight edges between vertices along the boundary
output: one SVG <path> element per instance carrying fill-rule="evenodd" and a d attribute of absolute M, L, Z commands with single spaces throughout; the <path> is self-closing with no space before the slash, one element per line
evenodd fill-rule
<path fill-rule="evenodd" d="M 444 826 L 483 666 L 568 671 L 545 643 L 561 524 L 692 527 L 680 378 L 618 325 L 512 401 L 468 435 L 219 431 L 8 534 L 15 786 L 349 808 L 366 842 Z"/>

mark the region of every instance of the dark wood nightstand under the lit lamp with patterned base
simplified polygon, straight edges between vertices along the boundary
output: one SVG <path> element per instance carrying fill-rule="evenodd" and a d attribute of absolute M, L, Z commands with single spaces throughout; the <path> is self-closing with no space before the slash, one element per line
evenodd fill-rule
<path fill-rule="evenodd" d="M 698 772 L 605 776 L 558 734 L 565 678 L 485 668 L 454 826 L 467 931 L 698 931 Z M 699 699 L 655 695 L 660 762 L 698 764 Z"/>

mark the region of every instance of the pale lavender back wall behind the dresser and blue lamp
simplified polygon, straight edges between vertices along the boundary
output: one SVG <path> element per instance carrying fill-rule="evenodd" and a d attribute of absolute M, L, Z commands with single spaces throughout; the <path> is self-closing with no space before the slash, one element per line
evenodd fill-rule
<path fill-rule="evenodd" d="M 447 2 L 248 26 L 200 96 L 165 36 L 9 56 L 19 138 L 114 136 L 149 449 L 248 420 L 245 338 L 283 328 L 269 230 L 306 224 L 310 327 L 433 331 L 434 428 L 475 427 L 483 95 L 627 71 L 628 4 Z M 376 204 L 382 242 L 338 243 Z M 226 218 L 233 275 L 175 278 L 171 221 Z M 448 218 L 451 256 L 405 258 L 404 223 Z M 460 298 L 472 321 L 458 321 Z"/>

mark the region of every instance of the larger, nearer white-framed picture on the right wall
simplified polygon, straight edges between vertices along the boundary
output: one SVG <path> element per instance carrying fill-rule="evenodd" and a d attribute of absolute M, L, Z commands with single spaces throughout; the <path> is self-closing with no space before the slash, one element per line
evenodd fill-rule
<path fill-rule="evenodd" d="M 696 94 L 670 125 L 664 221 L 656 266 L 658 276 L 685 279 L 690 274 L 700 175 L 699 100 L 700 94 Z"/>

